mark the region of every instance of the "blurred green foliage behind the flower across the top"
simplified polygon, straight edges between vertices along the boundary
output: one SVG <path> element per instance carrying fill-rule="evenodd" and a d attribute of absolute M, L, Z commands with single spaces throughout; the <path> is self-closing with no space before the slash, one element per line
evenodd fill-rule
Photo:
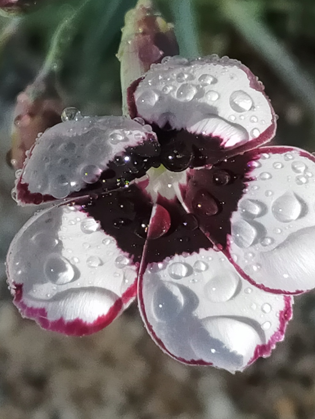
<path fill-rule="evenodd" d="M 84 2 L 42 0 L 3 42 L 0 97 L 13 101 L 32 82 L 59 23 Z M 88 0 L 58 63 L 66 103 L 85 114 L 120 114 L 118 50 L 135 0 Z M 278 141 L 315 149 L 314 0 L 157 0 L 175 23 L 181 53 L 229 55 L 258 75 L 279 114 Z M 16 19 L 16 18 L 15 18 Z M 11 20 L 11 23 L 10 23 Z M 13 18 L 0 18 L 0 26 Z M 1 39 L 0 39 L 1 44 Z M 297 140 L 298 138 L 298 140 Z"/>

